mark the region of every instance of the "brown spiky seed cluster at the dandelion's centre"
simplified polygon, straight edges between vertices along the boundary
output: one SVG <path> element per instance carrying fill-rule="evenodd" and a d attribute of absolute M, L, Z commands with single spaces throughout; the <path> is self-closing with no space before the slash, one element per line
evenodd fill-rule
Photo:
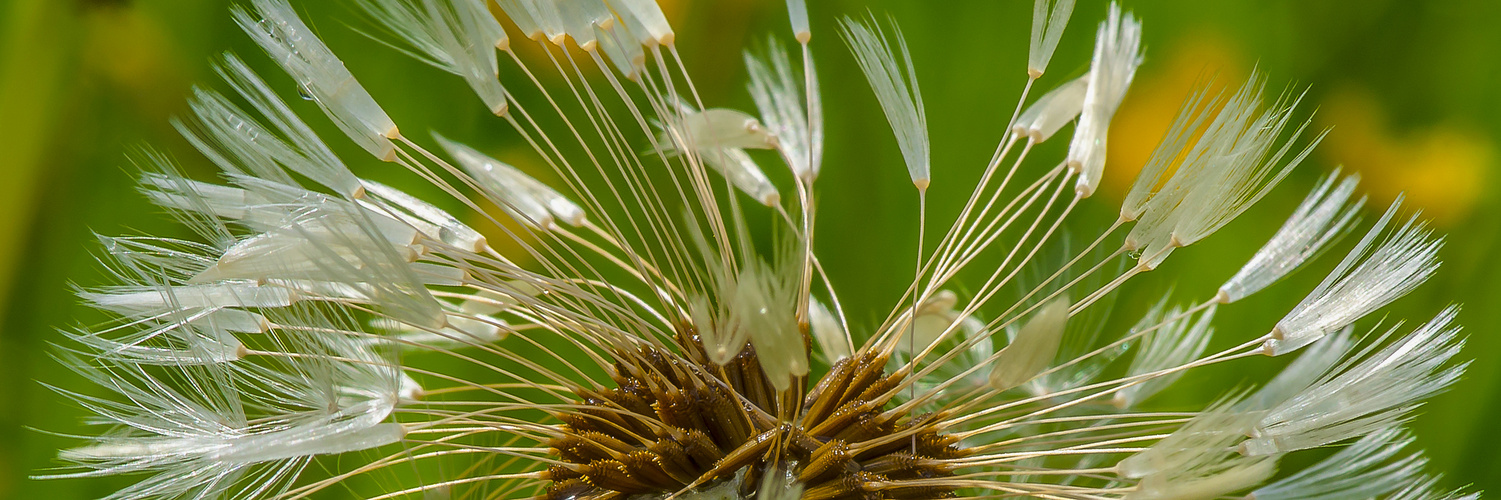
<path fill-rule="evenodd" d="M 672 494 L 741 470 L 747 497 L 763 474 L 787 468 L 805 500 L 953 497 L 953 488 L 923 479 L 953 476 L 944 459 L 965 450 L 938 434 L 935 416 L 886 408 L 902 375 L 886 374 L 884 356 L 841 360 L 779 405 L 749 345 L 717 366 L 692 327 L 677 344 L 681 356 L 656 347 L 615 353 L 614 389 L 575 392 L 584 408 L 560 414 L 560 437 L 548 443 L 567 465 L 548 468 L 542 498 Z"/>

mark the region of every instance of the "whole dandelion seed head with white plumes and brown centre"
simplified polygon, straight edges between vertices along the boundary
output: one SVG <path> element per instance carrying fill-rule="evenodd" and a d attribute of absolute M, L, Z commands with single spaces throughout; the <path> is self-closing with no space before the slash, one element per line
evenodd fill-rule
<path fill-rule="evenodd" d="M 1265 75 L 1205 86 L 1117 222 L 1082 233 L 1082 204 L 1117 210 L 1091 195 L 1150 68 L 1120 6 L 1075 62 L 1088 72 L 1028 102 L 1075 6 L 1036 2 L 1025 90 L 934 245 L 926 194 L 950 179 L 934 171 L 962 167 L 934 164 L 922 60 L 896 20 L 842 18 L 848 54 L 820 57 L 862 69 L 872 92 L 856 98 L 884 111 L 923 221 L 911 285 L 863 324 L 838 294 L 854 284 L 824 270 L 839 255 L 814 251 L 818 174 L 847 167 L 824 158 L 802 0 L 791 33 L 746 51 L 754 114 L 702 102 L 650 0 L 357 5 L 369 36 L 462 78 L 530 150 L 408 138 L 293 5 L 234 8 L 291 78 L 225 54 L 228 90 L 194 90 L 174 125 L 219 182 L 137 155 L 140 191 L 198 237 L 99 239 L 116 284 L 80 297 L 111 320 L 69 329 L 56 354 L 99 389 L 53 387 L 99 431 L 41 477 L 135 480 L 108 498 L 1466 497 L 1402 455 L 1403 423 L 1465 369 L 1457 306 L 1405 335 L 1354 333 L 1436 270 L 1441 240 L 1415 216 L 1388 231 L 1393 204 L 1268 333 L 1216 326 L 1360 225 L 1355 176 L 1324 177 L 1204 299 L 1159 293 L 1111 330 L 1133 278 L 1250 210 L 1318 143 Z M 317 135 L 299 114 L 314 108 L 275 89 L 345 137 Z M 1036 158 L 1070 123 L 1067 155 Z M 368 158 L 329 146 L 344 140 L 441 195 L 366 179 Z M 1153 405 L 1202 366 L 1300 348 L 1259 387 Z M 1342 449 L 1283 461 L 1327 446 Z"/>

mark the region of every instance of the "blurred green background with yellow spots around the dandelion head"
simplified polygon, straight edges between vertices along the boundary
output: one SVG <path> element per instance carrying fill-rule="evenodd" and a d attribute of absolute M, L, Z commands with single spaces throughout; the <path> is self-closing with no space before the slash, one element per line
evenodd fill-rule
<path fill-rule="evenodd" d="M 338 0 L 294 2 L 362 83 L 411 137 L 438 129 L 506 158 L 524 155 L 503 123 L 488 116 L 458 78 L 414 63 L 356 35 L 363 26 Z M 932 221 L 947 221 L 989 158 L 998 128 L 1024 83 L 1030 0 L 809 0 L 815 18 L 829 113 L 829 147 L 820 177 L 818 251 L 856 324 L 880 318 L 910 281 L 916 197 L 880 110 L 838 42 L 833 20 L 866 8 L 890 12 L 907 33 L 934 143 Z M 785 36 L 781 0 L 662 0 L 705 102 L 749 110 L 740 50 L 769 33 Z M 89 498 L 110 480 L 33 482 L 66 440 L 35 431 L 78 431 L 81 413 L 38 384 L 81 381 L 47 356 L 54 329 L 81 314 L 71 285 L 102 279 L 92 231 L 183 236 L 132 191 L 129 147 L 174 153 L 212 179 L 168 125 L 185 113 L 194 83 L 213 81 L 210 59 L 234 50 L 272 81 L 291 83 L 239 33 L 224 0 L 0 0 L 0 497 Z M 1183 300 L 1207 297 L 1291 212 L 1318 174 L 1343 164 L 1364 176 L 1372 207 L 1405 191 L 1447 233 L 1438 278 L 1394 305 L 1391 317 L 1421 321 L 1450 302 L 1471 333 L 1466 380 L 1420 410 L 1412 423 L 1433 470 L 1447 483 L 1501 491 L 1501 3 L 1132 0 L 1144 18 L 1147 63 L 1112 126 L 1111 161 L 1099 213 L 1114 210 L 1133 170 L 1151 152 L 1180 99 L 1204 75 L 1235 83 L 1250 68 L 1273 89 L 1310 86 L 1315 123 L 1334 126 L 1307 167 L 1262 206 L 1202 245 L 1127 287 L 1124 305 L 1153 300 L 1175 284 Z M 1081 0 L 1070 30 L 1040 86 L 1088 62 L 1093 26 L 1105 12 Z M 504 65 L 503 65 L 504 66 Z M 512 68 L 513 69 L 513 68 Z M 503 69 L 504 72 L 506 69 Z M 302 105 L 305 116 L 315 114 Z M 326 125 L 326 123 L 320 123 Z M 327 129 L 327 128 L 324 128 Z M 365 161 L 345 140 L 357 173 L 389 168 Z M 1064 143 L 1055 140 L 1054 143 Z M 1063 144 L 1042 155 L 1058 158 Z M 521 161 L 518 161 L 519 164 Z M 785 185 L 784 185 L 785 186 Z M 1100 218 L 1100 225 L 1106 225 Z M 1093 227 L 1078 227 L 1088 231 Z M 1348 242 L 1346 242 L 1348 245 Z M 1222 308 L 1219 342 L 1265 332 L 1331 263 L 1268 293 Z M 1129 306 L 1124 311 L 1139 311 Z M 1129 314 L 1127 314 L 1129 315 Z M 1129 321 L 1129 320 L 1127 320 Z M 1274 360 L 1252 359 L 1189 377 L 1169 401 L 1204 401 L 1258 380 Z M 1250 377 L 1250 378 L 1247 378 Z"/>

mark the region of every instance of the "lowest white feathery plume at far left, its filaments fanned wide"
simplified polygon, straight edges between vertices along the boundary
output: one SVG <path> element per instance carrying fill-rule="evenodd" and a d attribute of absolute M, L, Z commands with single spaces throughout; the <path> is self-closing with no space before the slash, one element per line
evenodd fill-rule
<path fill-rule="evenodd" d="M 278 317 L 281 324 L 347 330 L 320 308 Z M 107 498 L 258 497 L 281 491 L 308 458 L 380 447 L 405 431 L 384 422 L 401 393 L 401 371 L 383 354 L 336 333 L 276 332 L 272 345 L 302 356 L 264 363 L 164 366 L 71 359 L 117 398 L 63 392 L 117 426 L 90 446 L 59 453 L 80 471 L 50 477 L 150 474 Z"/>

